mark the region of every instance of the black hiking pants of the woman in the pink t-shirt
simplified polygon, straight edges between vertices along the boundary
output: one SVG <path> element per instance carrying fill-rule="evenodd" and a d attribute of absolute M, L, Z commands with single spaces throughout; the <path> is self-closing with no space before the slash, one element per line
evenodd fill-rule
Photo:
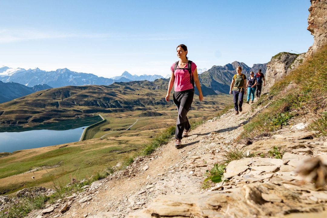
<path fill-rule="evenodd" d="M 175 139 L 182 139 L 184 129 L 190 129 L 191 125 L 187 119 L 187 112 L 191 109 L 193 102 L 194 89 L 189 89 L 181 92 L 174 92 L 174 103 L 178 110 L 176 122 Z"/>

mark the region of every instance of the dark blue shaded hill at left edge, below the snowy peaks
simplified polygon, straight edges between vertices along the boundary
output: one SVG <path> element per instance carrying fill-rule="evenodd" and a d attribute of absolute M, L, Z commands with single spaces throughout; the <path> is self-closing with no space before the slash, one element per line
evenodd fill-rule
<path fill-rule="evenodd" d="M 45 89 L 51 89 L 52 87 L 43 84 L 36 85 L 34 87 L 24 86 L 19 83 L 14 82 L 2 82 L 0 81 L 0 103 L 10 101 L 15 98 L 20 98 L 22 96 L 31 94 L 33 92 L 38 92 Z"/>

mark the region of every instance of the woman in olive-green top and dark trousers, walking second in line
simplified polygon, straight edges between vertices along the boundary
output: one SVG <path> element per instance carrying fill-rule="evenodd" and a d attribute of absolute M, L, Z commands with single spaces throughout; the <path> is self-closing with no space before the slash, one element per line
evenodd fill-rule
<path fill-rule="evenodd" d="M 240 66 L 236 68 L 236 72 L 237 74 L 232 78 L 229 94 L 233 91 L 235 114 L 238 114 L 238 111 L 242 111 L 243 96 L 246 94 L 246 76 L 241 73 L 242 67 Z"/>

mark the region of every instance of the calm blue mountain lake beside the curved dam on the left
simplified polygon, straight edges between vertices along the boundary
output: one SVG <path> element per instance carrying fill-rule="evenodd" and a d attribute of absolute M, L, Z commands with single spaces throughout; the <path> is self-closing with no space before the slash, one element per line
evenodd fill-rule
<path fill-rule="evenodd" d="M 94 116 L 29 128 L 0 127 L 0 153 L 77 142 L 83 128 L 101 120 Z"/>

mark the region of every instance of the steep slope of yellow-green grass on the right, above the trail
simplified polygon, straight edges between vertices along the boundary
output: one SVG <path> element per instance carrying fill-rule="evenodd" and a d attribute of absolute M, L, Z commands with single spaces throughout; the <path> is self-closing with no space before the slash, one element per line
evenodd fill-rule
<path fill-rule="evenodd" d="M 267 104 L 270 100 L 266 109 L 244 125 L 244 132 L 238 140 L 281 127 L 278 125 L 281 114 L 297 116 L 298 111 L 311 111 L 317 114 L 317 118 L 321 117 L 319 112 L 326 110 L 327 106 L 327 46 L 276 82 L 269 96 L 262 96 L 258 104 Z"/>

